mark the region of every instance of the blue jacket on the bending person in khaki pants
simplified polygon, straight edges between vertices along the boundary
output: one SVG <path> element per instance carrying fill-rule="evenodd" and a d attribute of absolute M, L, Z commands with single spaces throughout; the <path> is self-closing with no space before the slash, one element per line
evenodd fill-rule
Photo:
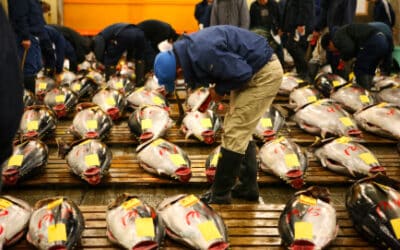
<path fill-rule="evenodd" d="M 229 25 L 184 35 L 174 52 L 192 88 L 215 83 L 220 95 L 244 87 L 273 53 L 264 37 Z"/>

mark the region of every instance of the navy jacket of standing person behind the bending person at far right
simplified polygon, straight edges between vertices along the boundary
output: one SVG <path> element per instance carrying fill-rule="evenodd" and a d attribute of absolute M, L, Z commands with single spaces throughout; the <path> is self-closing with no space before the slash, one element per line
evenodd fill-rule
<path fill-rule="evenodd" d="M 321 0 L 321 13 L 315 30 L 321 31 L 325 27 L 332 30 L 334 26 L 352 23 L 356 7 L 357 0 Z"/>

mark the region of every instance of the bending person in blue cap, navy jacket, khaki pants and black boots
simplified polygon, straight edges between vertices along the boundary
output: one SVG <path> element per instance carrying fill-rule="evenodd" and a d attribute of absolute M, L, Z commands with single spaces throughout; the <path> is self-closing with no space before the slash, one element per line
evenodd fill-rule
<path fill-rule="evenodd" d="M 217 103 L 230 94 L 215 180 L 202 200 L 231 203 L 231 195 L 258 200 L 252 131 L 272 104 L 283 77 L 282 66 L 272 48 L 264 37 L 249 30 L 230 25 L 211 26 L 183 35 L 174 43 L 173 50 L 156 56 L 154 73 L 168 92 L 174 91 L 177 72 L 183 73 L 192 89 L 215 83 L 209 91 Z M 237 177 L 240 183 L 234 187 Z"/>

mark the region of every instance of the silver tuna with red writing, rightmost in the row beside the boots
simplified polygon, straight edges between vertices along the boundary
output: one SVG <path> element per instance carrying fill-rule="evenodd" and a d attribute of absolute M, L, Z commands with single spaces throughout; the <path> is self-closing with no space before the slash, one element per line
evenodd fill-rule
<path fill-rule="evenodd" d="M 315 151 L 315 156 L 322 166 L 350 177 L 385 172 L 373 153 L 350 137 L 340 137 L 323 145 Z"/>

